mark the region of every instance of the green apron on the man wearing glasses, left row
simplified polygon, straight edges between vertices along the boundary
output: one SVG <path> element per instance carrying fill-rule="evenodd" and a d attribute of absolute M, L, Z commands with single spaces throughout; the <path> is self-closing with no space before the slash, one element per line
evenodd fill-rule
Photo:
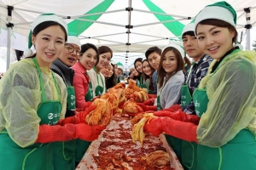
<path fill-rule="evenodd" d="M 75 91 L 73 86 L 67 86 L 67 109 L 74 111 L 75 106 Z M 75 169 L 75 156 L 76 140 L 66 142 L 53 143 L 53 163 L 55 170 L 73 170 Z"/>

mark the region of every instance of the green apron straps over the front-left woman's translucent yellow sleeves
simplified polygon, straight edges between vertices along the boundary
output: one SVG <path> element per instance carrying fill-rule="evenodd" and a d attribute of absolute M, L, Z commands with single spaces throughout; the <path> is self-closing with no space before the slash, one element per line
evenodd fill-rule
<path fill-rule="evenodd" d="M 40 89 L 42 91 L 42 100 L 43 101 L 46 101 L 46 96 L 45 96 L 45 91 L 44 91 L 44 83 L 43 83 L 43 77 L 42 77 L 42 71 L 38 65 L 38 60 L 34 57 L 32 58 L 34 64 L 36 65 L 36 68 L 38 70 L 38 76 L 39 76 L 39 82 L 40 82 Z M 55 79 L 55 75 L 53 74 L 53 72 L 51 70 L 49 70 L 53 79 L 54 79 L 54 82 L 55 82 L 55 88 L 57 90 L 57 94 L 58 94 L 58 99 L 60 100 L 61 99 L 61 96 L 60 96 L 60 90 L 59 88 L 57 88 L 57 82 L 56 82 L 56 79 Z"/>

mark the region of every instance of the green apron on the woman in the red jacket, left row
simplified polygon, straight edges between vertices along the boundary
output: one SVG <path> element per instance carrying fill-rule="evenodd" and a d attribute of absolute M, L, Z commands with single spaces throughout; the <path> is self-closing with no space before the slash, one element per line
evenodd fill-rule
<path fill-rule="evenodd" d="M 93 90 L 92 90 L 92 84 L 89 79 L 89 89 L 87 91 L 87 94 L 85 95 L 85 101 L 92 101 L 92 99 L 93 99 Z M 76 150 L 75 150 L 75 160 L 81 161 L 86 150 L 90 146 L 90 142 L 81 140 L 81 139 L 76 139 L 76 141 L 77 141 L 77 144 L 76 144 L 77 146 L 76 146 Z"/>

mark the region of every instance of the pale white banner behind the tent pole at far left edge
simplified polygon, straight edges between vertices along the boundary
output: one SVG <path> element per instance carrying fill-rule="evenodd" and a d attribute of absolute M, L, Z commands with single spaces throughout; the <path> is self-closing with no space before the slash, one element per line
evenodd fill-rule
<path fill-rule="evenodd" d="M 0 47 L 7 47 L 7 35 L 7 30 L 0 28 Z M 24 51 L 27 48 L 27 38 L 12 31 L 10 47 Z"/>

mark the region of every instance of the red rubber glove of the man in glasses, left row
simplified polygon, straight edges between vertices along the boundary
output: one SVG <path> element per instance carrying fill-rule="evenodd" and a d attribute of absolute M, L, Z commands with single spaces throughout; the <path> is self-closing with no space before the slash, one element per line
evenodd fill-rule
<path fill-rule="evenodd" d="M 79 124 L 85 122 L 85 117 L 90 113 L 90 111 L 93 111 L 96 109 L 96 105 L 90 105 L 90 107 L 87 107 L 85 111 L 76 111 L 75 116 L 70 116 L 65 119 L 62 119 L 58 122 L 58 125 L 65 125 L 67 123 L 73 123 L 73 124 Z"/>

